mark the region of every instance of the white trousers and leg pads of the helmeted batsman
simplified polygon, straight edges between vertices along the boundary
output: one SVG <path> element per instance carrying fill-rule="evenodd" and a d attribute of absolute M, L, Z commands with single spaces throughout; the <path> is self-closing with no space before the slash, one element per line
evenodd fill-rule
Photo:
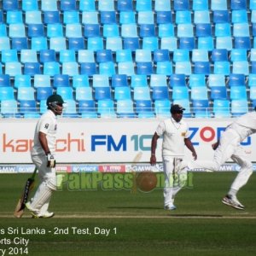
<path fill-rule="evenodd" d="M 38 168 L 39 185 L 31 206 L 44 215 L 49 207 L 52 191 L 56 190 L 55 168 L 47 167 L 47 157 L 45 155 L 32 155 L 32 161 Z"/>

